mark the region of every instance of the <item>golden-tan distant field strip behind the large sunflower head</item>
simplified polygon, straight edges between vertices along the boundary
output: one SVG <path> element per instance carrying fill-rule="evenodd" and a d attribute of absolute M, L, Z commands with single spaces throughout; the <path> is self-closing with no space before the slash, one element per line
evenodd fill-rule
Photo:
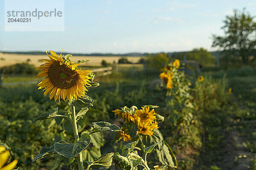
<path fill-rule="evenodd" d="M 28 55 L 28 54 L 3 54 L 0 53 L 0 67 L 6 66 L 6 65 L 13 65 L 16 63 L 22 63 L 27 62 L 29 60 L 30 64 L 35 65 L 38 67 L 43 62 L 39 61 L 38 59 L 44 59 L 47 58 L 46 55 Z M 121 57 L 116 56 L 79 56 L 79 57 L 73 57 L 72 59 L 74 61 L 82 60 L 82 59 L 89 59 L 90 62 L 86 62 L 83 65 L 86 66 L 101 66 L 102 60 L 105 60 L 108 63 L 113 63 L 114 61 L 120 59 Z M 141 57 L 127 57 L 127 59 L 131 62 L 138 62 Z"/>

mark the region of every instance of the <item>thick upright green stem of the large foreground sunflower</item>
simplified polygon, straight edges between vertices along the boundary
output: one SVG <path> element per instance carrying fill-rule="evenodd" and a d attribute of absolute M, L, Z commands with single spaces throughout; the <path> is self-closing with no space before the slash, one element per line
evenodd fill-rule
<path fill-rule="evenodd" d="M 79 134 L 78 134 L 77 124 L 76 124 L 76 110 L 75 110 L 75 106 L 73 106 L 72 104 L 70 104 L 70 107 L 71 107 L 73 132 L 74 132 L 76 142 L 78 142 L 79 141 Z M 78 164 L 79 170 L 84 170 L 82 152 L 80 152 L 79 155 L 78 155 L 77 164 Z"/>

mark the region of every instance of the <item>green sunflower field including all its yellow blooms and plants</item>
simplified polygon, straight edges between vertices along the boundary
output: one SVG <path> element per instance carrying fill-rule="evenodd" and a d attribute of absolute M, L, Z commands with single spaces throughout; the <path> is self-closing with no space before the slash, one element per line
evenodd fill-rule
<path fill-rule="evenodd" d="M 255 68 L 189 75 L 170 59 L 97 77 L 46 57 L 37 86 L 0 88 L 0 170 L 256 168 Z"/>

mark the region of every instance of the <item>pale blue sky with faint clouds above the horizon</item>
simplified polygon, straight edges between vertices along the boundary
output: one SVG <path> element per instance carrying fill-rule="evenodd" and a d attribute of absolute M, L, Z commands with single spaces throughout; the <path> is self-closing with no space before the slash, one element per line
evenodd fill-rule
<path fill-rule="evenodd" d="M 223 35 L 225 16 L 244 7 L 256 16 L 255 0 L 64 0 L 64 31 L 4 31 L 0 0 L 0 51 L 214 51 L 212 34 Z"/>

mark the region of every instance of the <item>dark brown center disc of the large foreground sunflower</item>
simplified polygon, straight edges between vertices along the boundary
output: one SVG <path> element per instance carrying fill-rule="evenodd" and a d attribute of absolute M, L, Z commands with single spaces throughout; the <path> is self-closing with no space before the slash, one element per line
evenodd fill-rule
<path fill-rule="evenodd" d="M 48 76 L 52 84 L 57 88 L 71 88 L 79 80 L 78 73 L 75 70 L 65 64 L 60 65 L 60 62 L 54 62 L 50 66 Z"/>

